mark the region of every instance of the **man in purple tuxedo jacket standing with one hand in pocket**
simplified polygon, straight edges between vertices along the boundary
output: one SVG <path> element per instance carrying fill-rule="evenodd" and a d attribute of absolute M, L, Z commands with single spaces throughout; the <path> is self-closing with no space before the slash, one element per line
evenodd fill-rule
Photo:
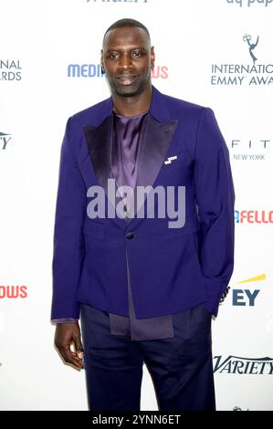
<path fill-rule="evenodd" d="M 90 410 L 140 410 L 143 362 L 160 410 L 215 410 L 211 318 L 234 264 L 229 155 L 213 110 L 152 86 L 154 60 L 140 22 L 110 26 L 111 97 L 69 118 L 62 144 L 51 320 L 64 361 L 86 368 Z M 110 180 L 123 196 L 122 186 L 184 186 L 184 225 L 138 216 L 134 196 L 126 217 L 109 215 Z M 110 202 L 104 217 L 90 215 L 94 186 Z"/>

